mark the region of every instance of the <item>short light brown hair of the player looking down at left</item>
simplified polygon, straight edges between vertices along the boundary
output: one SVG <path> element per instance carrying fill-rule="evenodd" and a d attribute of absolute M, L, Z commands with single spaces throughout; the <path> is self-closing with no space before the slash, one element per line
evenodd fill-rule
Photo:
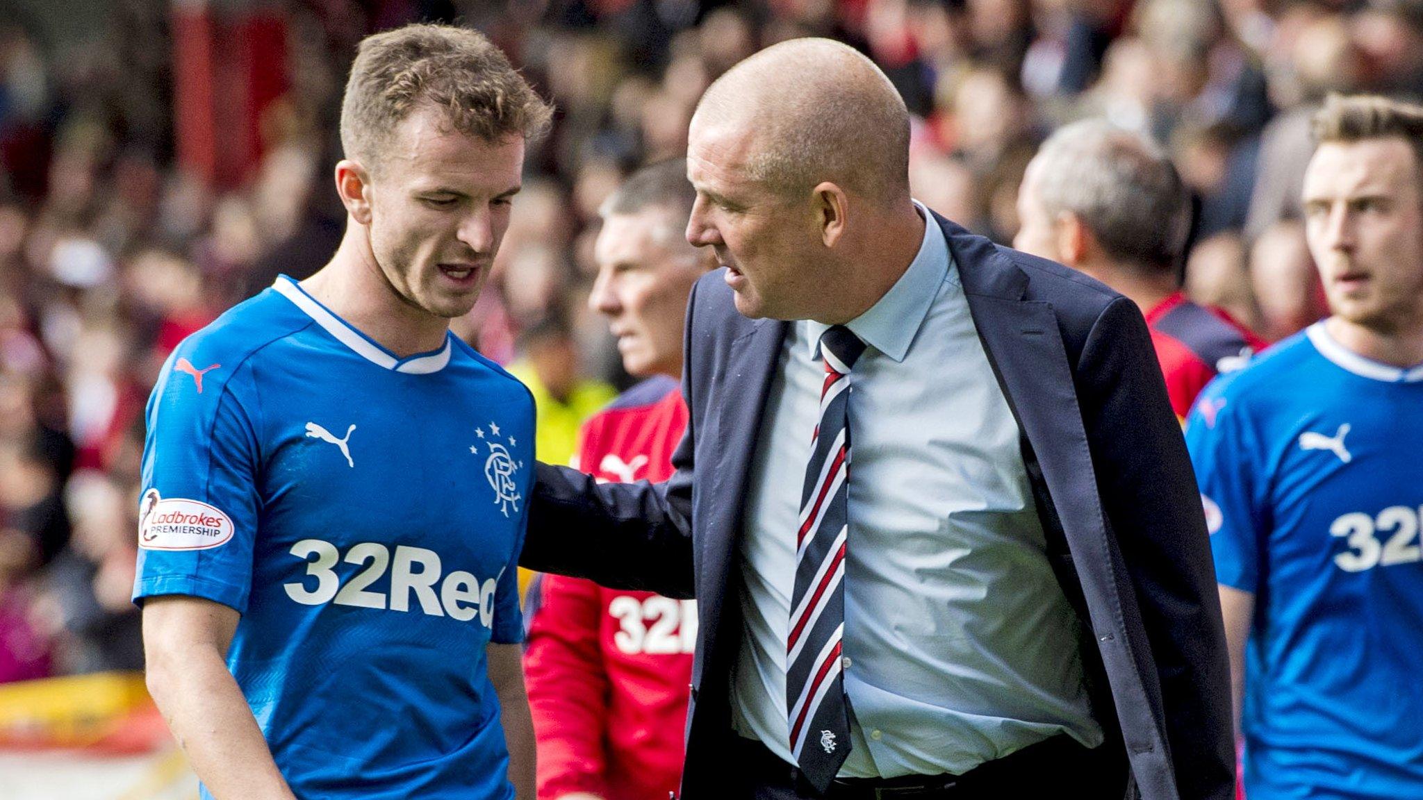
<path fill-rule="evenodd" d="M 552 108 L 480 31 L 410 24 L 361 40 L 342 101 L 342 149 L 374 169 L 396 128 L 421 107 L 490 144 L 534 140 Z"/>

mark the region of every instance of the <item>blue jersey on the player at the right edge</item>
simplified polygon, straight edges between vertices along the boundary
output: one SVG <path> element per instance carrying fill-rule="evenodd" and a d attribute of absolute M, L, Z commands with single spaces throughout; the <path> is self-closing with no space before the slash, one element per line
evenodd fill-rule
<path fill-rule="evenodd" d="M 1423 797 L 1423 367 L 1323 323 L 1187 420 L 1217 578 L 1255 595 L 1245 794 Z"/>

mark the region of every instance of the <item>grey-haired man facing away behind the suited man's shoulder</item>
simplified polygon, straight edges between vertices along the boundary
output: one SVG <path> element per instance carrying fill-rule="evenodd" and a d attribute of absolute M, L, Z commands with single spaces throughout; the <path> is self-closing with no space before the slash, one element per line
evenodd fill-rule
<path fill-rule="evenodd" d="M 1015 248 L 1079 269 L 1137 303 L 1177 419 L 1212 377 L 1265 347 L 1224 310 L 1181 292 L 1190 198 L 1167 154 L 1140 134 L 1104 120 L 1054 132 L 1027 165 L 1017 218 Z"/>

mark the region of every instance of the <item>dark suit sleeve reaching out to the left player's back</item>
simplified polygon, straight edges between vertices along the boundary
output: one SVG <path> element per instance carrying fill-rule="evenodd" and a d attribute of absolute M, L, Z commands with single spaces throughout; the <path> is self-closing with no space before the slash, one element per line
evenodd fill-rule
<path fill-rule="evenodd" d="M 687 302 L 687 330 L 696 309 Z M 683 347 L 690 347 L 692 336 Z M 693 363 L 686 357 L 683 363 Z M 696 397 L 692 370 L 683 397 Z M 529 528 L 519 565 L 539 572 L 591 578 L 615 589 L 642 589 L 692 598 L 692 474 L 696 409 L 672 454 L 673 474 L 663 483 L 599 484 L 569 467 L 536 464 Z"/>

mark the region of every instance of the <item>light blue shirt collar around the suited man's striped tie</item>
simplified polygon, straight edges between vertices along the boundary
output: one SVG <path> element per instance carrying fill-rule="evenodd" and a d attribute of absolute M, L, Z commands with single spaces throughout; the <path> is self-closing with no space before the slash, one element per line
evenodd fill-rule
<path fill-rule="evenodd" d="M 939 293 L 939 285 L 948 278 L 953 266 L 949 255 L 949 242 L 943 238 L 943 228 L 933 219 L 929 209 L 919 201 L 914 201 L 915 209 L 924 218 L 924 241 L 919 252 L 909 262 L 899 280 L 889 288 L 869 310 L 845 323 L 855 336 L 865 344 L 889 356 L 895 362 L 902 362 L 909 353 L 909 343 L 919 332 L 924 319 L 929 316 L 929 306 Z M 810 336 L 810 356 L 820 356 L 820 337 L 830 329 L 828 325 L 807 320 L 807 335 Z"/>

